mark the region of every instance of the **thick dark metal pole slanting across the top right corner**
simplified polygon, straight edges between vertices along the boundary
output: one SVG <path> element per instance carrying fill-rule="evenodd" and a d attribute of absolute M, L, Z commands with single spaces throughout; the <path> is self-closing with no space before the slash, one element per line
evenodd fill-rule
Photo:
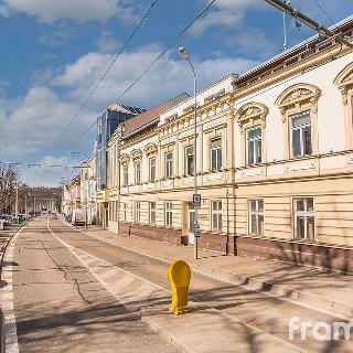
<path fill-rule="evenodd" d="M 310 19 L 306 14 L 299 12 L 297 9 L 295 9 L 292 6 L 288 3 L 288 1 L 284 0 L 265 0 L 267 3 L 272 6 L 274 8 L 290 14 L 298 22 L 301 22 L 312 30 L 317 31 L 319 34 L 322 34 L 327 38 L 335 38 L 338 42 L 341 44 L 344 44 L 346 46 L 353 47 L 353 42 L 347 41 L 345 38 L 342 35 L 334 33 L 333 31 L 324 28 L 320 23 L 315 22 L 314 20 Z"/>

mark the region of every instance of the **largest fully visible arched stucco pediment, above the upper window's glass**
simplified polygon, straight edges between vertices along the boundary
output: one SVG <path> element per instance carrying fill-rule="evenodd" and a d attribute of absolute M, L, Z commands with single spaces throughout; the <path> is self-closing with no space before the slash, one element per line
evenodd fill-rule
<path fill-rule="evenodd" d="M 290 109 L 300 110 L 303 106 L 309 106 L 313 114 L 318 111 L 318 100 L 321 89 L 310 84 L 296 84 L 285 89 L 276 99 L 281 115 L 282 122 L 287 119 L 287 111 Z"/>

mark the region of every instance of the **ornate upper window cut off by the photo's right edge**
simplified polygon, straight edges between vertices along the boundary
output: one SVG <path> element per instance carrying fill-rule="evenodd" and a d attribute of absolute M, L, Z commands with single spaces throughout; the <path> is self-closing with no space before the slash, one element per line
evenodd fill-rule
<path fill-rule="evenodd" d="M 346 65 L 334 83 L 342 94 L 344 108 L 345 148 L 353 149 L 353 63 Z"/>

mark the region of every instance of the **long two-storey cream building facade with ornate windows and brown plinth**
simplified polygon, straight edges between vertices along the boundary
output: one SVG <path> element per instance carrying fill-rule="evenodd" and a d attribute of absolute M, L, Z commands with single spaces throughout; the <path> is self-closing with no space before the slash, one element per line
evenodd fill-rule
<path fill-rule="evenodd" d="M 336 25 L 352 38 L 353 20 Z M 193 97 L 108 142 L 108 224 L 192 244 Z M 197 93 L 200 244 L 344 268 L 353 255 L 353 54 L 300 43 Z M 139 119 L 139 116 L 132 118 Z M 138 121 L 138 120 L 136 120 Z"/>

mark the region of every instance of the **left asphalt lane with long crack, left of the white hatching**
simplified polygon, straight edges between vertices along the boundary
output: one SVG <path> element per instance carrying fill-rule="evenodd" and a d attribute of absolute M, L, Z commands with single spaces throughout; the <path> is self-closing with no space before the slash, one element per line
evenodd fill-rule
<path fill-rule="evenodd" d="M 139 312 L 116 301 L 53 237 L 45 218 L 23 229 L 14 263 L 20 352 L 178 352 L 140 320 Z"/>

